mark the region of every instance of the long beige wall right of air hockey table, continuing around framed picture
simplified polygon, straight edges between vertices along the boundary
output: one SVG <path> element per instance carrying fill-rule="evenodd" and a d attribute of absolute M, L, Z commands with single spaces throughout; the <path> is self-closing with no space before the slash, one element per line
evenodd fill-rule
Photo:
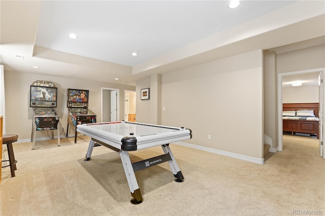
<path fill-rule="evenodd" d="M 257 50 L 162 74 L 161 124 L 190 128 L 185 142 L 263 158 L 262 64 Z M 150 79 L 137 82 L 137 93 L 148 87 Z M 146 102 L 137 100 L 138 122 L 149 123 Z"/>

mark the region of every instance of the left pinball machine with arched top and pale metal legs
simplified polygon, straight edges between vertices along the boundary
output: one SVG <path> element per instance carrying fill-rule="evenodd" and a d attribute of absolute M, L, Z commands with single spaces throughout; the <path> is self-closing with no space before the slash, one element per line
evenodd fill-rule
<path fill-rule="evenodd" d="M 41 130 L 57 130 L 57 146 L 60 146 L 59 116 L 55 111 L 56 100 L 57 88 L 53 83 L 38 80 L 31 84 L 29 106 L 34 112 L 31 150 L 35 149 L 36 131 Z"/>

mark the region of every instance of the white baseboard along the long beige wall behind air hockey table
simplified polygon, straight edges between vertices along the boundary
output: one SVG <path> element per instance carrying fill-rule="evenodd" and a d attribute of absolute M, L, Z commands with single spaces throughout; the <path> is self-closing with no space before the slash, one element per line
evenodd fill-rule
<path fill-rule="evenodd" d="M 250 156 L 246 156 L 246 155 L 240 155 L 240 154 L 236 154 L 236 153 L 232 153 L 232 152 L 226 152 L 226 151 L 221 151 L 221 150 L 217 150 L 217 149 L 212 149 L 212 148 L 207 148 L 207 147 L 203 147 L 203 146 L 197 146 L 197 145 L 193 145 L 193 144 L 189 144 L 186 142 L 175 142 L 176 144 L 180 145 L 180 146 L 185 146 L 185 147 L 189 147 L 189 148 L 193 148 L 193 149 L 198 149 L 198 150 L 202 150 L 202 151 L 206 151 L 206 152 L 211 152 L 214 154 L 218 154 L 218 155 L 223 155 L 223 156 L 227 156 L 227 157 L 231 157 L 231 158 L 236 158 L 236 159 L 240 159 L 240 160 L 244 160 L 244 161 L 249 161 L 249 162 L 253 162 L 253 163 L 258 163 L 258 164 L 264 164 L 264 158 L 254 158 L 254 157 L 250 157 Z"/>

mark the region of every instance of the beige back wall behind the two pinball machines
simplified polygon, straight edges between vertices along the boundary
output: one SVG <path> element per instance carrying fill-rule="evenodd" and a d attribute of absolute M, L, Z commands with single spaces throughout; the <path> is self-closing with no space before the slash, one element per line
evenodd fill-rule
<path fill-rule="evenodd" d="M 89 75 L 90 76 L 90 75 Z M 91 111 L 96 114 L 97 121 L 101 121 L 101 87 L 135 90 L 133 86 L 116 85 L 102 82 L 91 82 L 75 78 L 60 78 L 54 76 L 40 76 L 37 74 L 18 73 L 6 71 L 5 68 L 5 97 L 6 97 L 6 133 L 18 134 L 18 139 L 30 139 L 32 129 L 32 108 L 29 107 L 30 85 L 37 80 L 53 82 L 58 88 L 56 112 L 60 117 L 60 125 L 67 130 L 68 107 L 67 89 L 89 90 L 89 104 Z M 123 119 L 124 95 L 120 94 L 120 116 Z M 92 110 L 92 107 L 95 107 Z M 54 135 L 56 134 L 56 131 Z M 38 131 L 36 137 L 48 137 L 47 131 Z M 64 134 L 61 133 L 61 137 Z"/>

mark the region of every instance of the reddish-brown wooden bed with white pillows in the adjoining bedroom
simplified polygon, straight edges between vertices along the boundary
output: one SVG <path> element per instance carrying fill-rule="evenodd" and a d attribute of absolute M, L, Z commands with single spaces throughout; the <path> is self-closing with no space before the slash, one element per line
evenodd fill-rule
<path fill-rule="evenodd" d="M 318 103 L 283 103 L 283 132 L 316 134 L 319 138 Z"/>

